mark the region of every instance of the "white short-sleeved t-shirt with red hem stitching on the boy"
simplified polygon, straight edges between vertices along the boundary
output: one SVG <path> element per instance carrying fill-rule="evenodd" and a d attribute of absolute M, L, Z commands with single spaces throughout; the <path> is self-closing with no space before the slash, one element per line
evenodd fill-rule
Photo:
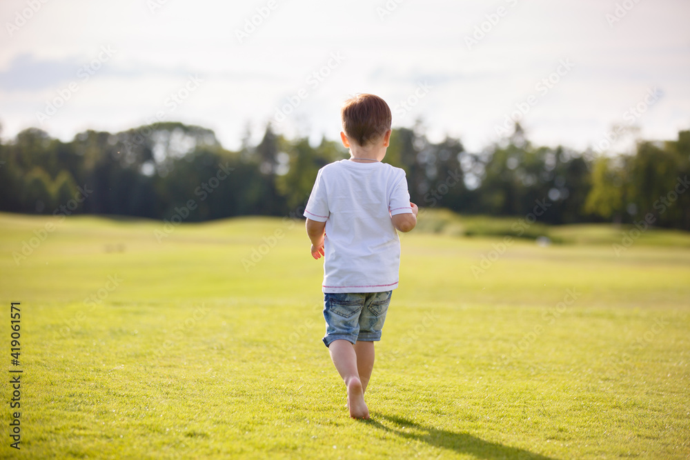
<path fill-rule="evenodd" d="M 391 221 L 411 213 L 405 171 L 341 160 L 319 170 L 304 217 L 326 222 L 324 292 L 397 288 L 400 238 Z"/>

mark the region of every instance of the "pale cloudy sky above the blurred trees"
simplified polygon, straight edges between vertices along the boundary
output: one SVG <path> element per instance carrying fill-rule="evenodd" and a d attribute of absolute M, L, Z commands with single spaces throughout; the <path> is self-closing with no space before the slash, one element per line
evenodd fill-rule
<path fill-rule="evenodd" d="M 0 135 L 182 121 L 235 150 L 270 122 L 316 142 L 370 92 L 471 152 L 513 119 L 613 151 L 690 129 L 689 19 L 687 0 L 2 0 Z M 609 145 L 613 126 L 636 134 Z"/>

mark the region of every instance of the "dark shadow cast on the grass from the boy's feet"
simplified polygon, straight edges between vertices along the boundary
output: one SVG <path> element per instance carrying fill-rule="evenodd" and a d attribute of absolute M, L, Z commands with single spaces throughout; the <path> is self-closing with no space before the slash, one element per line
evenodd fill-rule
<path fill-rule="evenodd" d="M 375 428 L 392 432 L 402 438 L 416 439 L 417 441 L 427 443 L 429 446 L 454 450 L 459 454 L 470 454 L 477 459 L 554 460 L 552 457 L 545 457 L 544 455 L 535 454 L 533 452 L 529 452 L 529 450 L 484 441 L 483 439 L 472 436 L 471 434 L 437 430 L 436 428 L 422 426 L 413 421 L 403 419 L 402 417 L 395 417 L 380 413 L 373 414 L 373 417 L 388 421 L 393 426 L 386 426 L 375 419 L 364 420 L 362 422 L 374 426 Z"/>

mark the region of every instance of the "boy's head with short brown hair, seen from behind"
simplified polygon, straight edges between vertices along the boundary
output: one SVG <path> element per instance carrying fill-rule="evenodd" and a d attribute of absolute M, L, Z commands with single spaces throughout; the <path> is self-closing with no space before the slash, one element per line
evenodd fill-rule
<path fill-rule="evenodd" d="M 345 101 L 340 117 L 343 132 L 360 147 L 382 139 L 393 119 L 386 101 L 373 94 L 357 94 Z"/>

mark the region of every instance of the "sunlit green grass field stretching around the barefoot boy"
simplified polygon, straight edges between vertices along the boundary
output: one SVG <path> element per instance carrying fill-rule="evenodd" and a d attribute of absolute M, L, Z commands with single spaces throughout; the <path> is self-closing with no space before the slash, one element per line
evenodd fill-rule
<path fill-rule="evenodd" d="M 618 257 L 620 230 L 553 232 L 594 237 L 404 234 L 354 421 L 301 222 L 0 214 L 3 366 L 23 370 L 21 450 L 5 372 L 0 457 L 687 459 L 690 237 Z"/>

